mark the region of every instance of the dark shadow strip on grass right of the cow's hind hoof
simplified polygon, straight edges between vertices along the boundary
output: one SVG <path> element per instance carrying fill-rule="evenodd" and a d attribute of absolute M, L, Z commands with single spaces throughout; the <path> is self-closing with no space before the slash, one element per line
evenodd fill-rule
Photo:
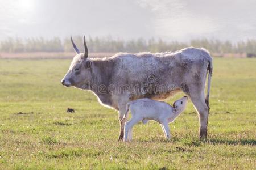
<path fill-rule="evenodd" d="M 208 139 L 211 144 L 227 144 L 227 145 L 256 145 L 256 139 Z"/>

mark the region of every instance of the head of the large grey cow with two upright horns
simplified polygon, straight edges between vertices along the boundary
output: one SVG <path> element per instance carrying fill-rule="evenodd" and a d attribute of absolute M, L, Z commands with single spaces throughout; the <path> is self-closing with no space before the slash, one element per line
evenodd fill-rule
<path fill-rule="evenodd" d="M 88 59 L 88 49 L 84 37 L 84 53 L 80 53 L 71 37 L 73 48 L 75 49 L 76 56 L 73 58 L 69 70 L 61 83 L 66 86 L 75 86 L 77 88 L 89 88 L 89 83 L 92 79 L 92 61 Z"/>

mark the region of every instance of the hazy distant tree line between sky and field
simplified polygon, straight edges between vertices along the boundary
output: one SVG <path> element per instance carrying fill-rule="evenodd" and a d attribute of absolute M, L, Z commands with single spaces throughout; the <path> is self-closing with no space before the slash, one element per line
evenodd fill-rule
<path fill-rule="evenodd" d="M 84 49 L 82 37 L 73 37 L 73 40 L 81 49 Z M 239 41 L 232 43 L 230 41 L 196 39 L 190 42 L 163 41 L 162 39 L 151 38 L 145 40 L 142 38 L 133 40 L 113 39 L 112 37 L 87 37 L 86 42 L 89 52 L 167 52 L 175 51 L 187 46 L 208 49 L 211 53 L 247 53 L 256 56 L 256 40 Z M 73 52 L 70 38 L 61 40 L 59 37 L 52 39 L 29 38 L 20 39 L 9 37 L 0 42 L 0 51 L 9 53 L 22 52 Z"/>

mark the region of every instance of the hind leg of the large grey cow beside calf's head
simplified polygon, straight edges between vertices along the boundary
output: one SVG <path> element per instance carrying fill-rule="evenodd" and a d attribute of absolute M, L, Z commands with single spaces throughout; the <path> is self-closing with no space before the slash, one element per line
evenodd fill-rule
<path fill-rule="evenodd" d="M 188 95 L 190 96 L 191 101 L 192 101 L 192 103 L 198 113 L 198 116 L 199 116 L 200 139 L 207 139 L 207 124 L 208 124 L 209 107 L 205 103 L 204 90 L 200 90 L 200 88 L 196 88 L 196 87 L 192 88 L 192 89 Z"/>

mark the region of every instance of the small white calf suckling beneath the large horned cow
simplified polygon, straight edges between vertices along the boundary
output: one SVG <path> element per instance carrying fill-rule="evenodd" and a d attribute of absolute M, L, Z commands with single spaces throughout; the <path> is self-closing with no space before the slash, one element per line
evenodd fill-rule
<path fill-rule="evenodd" d="M 129 109 L 132 117 L 131 120 L 127 121 L 125 124 L 125 138 L 123 141 L 131 141 L 132 129 L 135 124 L 137 124 L 139 121 L 146 124 L 148 120 L 159 122 L 163 129 L 164 136 L 166 139 L 170 139 L 171 134 L 168 124 L 173 122 L 175 118 L 184 111 L 187 102 L 187 96 L 176 100 L 173 107 L 163 101 L 156 101 L 147 98 L 130 101 L 126 105 L 126 112 L 123 118 L 127 116 Z"/>

